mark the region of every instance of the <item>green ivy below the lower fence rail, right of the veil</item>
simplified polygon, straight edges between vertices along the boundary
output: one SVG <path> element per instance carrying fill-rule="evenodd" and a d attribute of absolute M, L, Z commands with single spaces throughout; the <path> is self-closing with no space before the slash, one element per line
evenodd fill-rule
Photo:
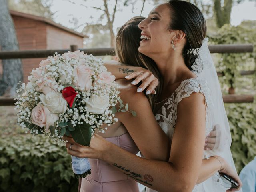
<path fill-rule="evenodd" d="M 256 102 L 225 104 L 232 134 L 231 151 L 238 172 L 256 156 Z"/>

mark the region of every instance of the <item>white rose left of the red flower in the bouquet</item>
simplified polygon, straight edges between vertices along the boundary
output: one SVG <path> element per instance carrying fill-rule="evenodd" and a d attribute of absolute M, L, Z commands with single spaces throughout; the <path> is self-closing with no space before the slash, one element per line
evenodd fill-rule
<path fill-rule="evenodd" d="M 67 102 L 61 93 L 48 92 L 46 95 L 40 94 L 40 100 L 51 112 L 64 113 L 67 110 Z"/>

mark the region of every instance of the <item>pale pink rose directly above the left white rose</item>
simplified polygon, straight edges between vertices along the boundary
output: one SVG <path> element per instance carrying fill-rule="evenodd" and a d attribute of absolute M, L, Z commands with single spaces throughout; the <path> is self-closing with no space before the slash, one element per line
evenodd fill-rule
<path fill-rule="evenodd" d="M 50 77 L 48 77 L 47 80 L 44 80 L 44 77 L 41 77 L 36 84 L 38 85 L 36 90 L 43 92 L 45 95 L 49 92 L 57 91 L 58 87 L 57 82 Z"/>

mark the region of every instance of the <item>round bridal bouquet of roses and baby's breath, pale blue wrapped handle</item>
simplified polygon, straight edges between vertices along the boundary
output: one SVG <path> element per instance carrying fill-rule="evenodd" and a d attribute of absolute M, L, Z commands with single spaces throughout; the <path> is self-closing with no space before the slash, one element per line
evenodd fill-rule
<path fill-rule="evenodd" d="M 22 128 L 34 135 L 46 134 L 59 143 L 64 143 L 62 137 L 66 134 L 89 146 L 95 130 L 104 133 L 117 121 L 115 106 L 120 92 L 115 76 L 100 59 L 78 50 L 55 53 L 39 65 L 32 70 L 28 84 L 20 84 L 17 89 L 15 104 Z M 126 105 L 122 111 L 128 110 Z M 77 177 L 90 174 L 87 158 L 72 156 L 72 168 Z"/>

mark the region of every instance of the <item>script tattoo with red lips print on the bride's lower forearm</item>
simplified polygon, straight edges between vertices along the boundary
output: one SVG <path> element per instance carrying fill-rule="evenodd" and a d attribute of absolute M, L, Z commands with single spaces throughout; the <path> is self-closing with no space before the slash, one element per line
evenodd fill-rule
<path fill-rule="evenodd" d="M 150 186 L 153 186 L 152 182 L 154 181 L 153 177 L 149 174 L 145 174 L 143 175 L 143 177 L 138 174 L 138 173 L 134 173 L 132 172 L 130 169 L 126 169 L 125 167 L 122 167 L 122 166 L 118 166 L 116 163 L 113 164 L 113 166 L 121 169 L 121 170 L 124 170 L 125 173 L 127 176 L 137 180 L 137 181 L 140 181 L 144 184 L 147 184 L 147 185 L 150 185 Z"/>

